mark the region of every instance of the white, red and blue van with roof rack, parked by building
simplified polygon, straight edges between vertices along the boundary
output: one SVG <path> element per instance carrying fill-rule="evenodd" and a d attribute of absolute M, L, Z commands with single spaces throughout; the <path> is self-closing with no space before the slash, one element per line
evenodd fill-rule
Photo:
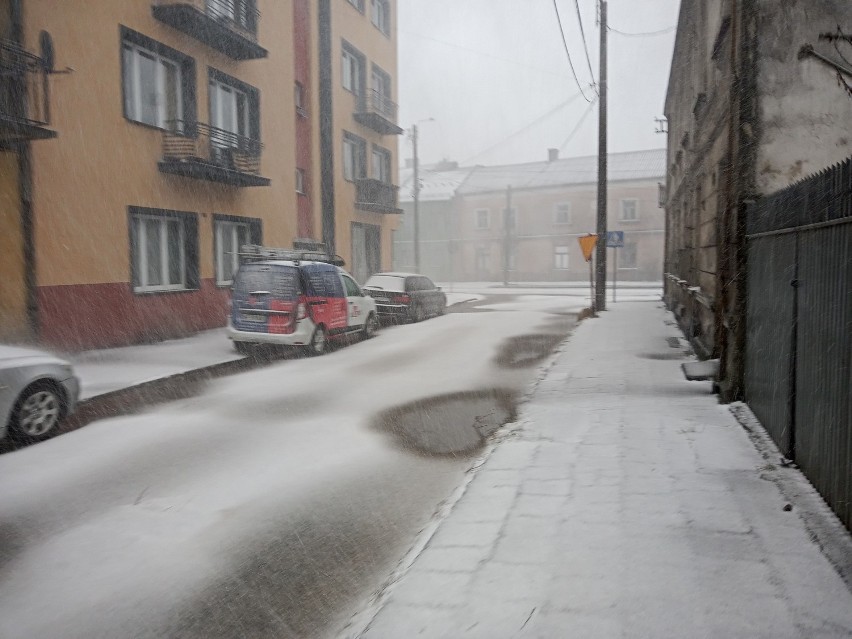
<path fill-rule="evenodd" d="M 228 337 L 240 352 L 256 344 L 326 350 L 329 339 L 378 328 L 376 302 L 349 273 L 321 254 L 286 249 L 255 250 L 289 259 L 244 262 L 231 293 Z M 300 259 L 305 258 L 305 259 Z M 339 260 L 339 258 L 336 258 Z"/>

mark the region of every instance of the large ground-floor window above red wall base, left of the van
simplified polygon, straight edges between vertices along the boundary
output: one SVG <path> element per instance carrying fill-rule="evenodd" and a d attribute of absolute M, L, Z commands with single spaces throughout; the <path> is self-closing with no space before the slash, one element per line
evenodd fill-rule
<path fill-rule="evenodd" d="M 197 221 L 191 213 L 131 207 L 130 253 L 136 292 L 198 286 Z"/>

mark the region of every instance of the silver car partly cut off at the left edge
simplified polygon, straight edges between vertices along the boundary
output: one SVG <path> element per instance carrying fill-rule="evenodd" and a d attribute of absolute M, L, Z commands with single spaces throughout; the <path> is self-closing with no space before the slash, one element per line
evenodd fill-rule
<path fill-rule="evenodd" d="M 30 443 L 54 435 L 74 412 L 80 380 L 49 353 L 0 344 L 0 438 Z"/>

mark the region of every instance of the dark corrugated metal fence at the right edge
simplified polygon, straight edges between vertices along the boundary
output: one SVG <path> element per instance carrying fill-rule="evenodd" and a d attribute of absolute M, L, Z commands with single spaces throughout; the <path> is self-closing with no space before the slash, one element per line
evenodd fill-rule
<path fill-rule="evenodd" d="M 852 530 L 852 158 L 748 209 L 746 401 Z"/>

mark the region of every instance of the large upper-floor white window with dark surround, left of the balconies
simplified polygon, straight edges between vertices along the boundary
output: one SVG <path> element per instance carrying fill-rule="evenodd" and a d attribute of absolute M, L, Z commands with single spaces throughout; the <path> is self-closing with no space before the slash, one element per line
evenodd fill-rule
<path fill-rule="evenodd" d="M 194 118 L 192 58 L 126 28 L 122 28 L 121 56 L 125 117 L 182 130 L 184 120 Z"/>

